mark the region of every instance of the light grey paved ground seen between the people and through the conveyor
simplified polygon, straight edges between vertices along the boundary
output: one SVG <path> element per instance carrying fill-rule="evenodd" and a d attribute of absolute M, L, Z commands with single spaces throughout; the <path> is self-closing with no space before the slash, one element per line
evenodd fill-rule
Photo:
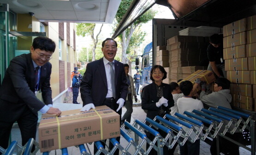
<path fill-rule="evenodd" d="M 140 96 L 138 96 L 138 99 L 140 98 Z M 60 108 L 60 110 L 68 110 L 68 109 L 80 109 L 82 108 L 82 100 L 81 100 L 81 97 L 80 97 L 80 94 L 79 94 L 79 97 L 77 99 L 77 102 L 78 103 L 81 103 L 81 104 L 71 104 L 72 103 L 72 98 L 69 97 L 66 99 L 66 102 L 67 103 L 56 103 L 54 104 L 54 107 L 58 107 Z M 71 102 L 70 102 L 71 101 Z M 140 102 L 140 101 L 138 101 Z M 134 105 L 140 105 L 138 103 L 134 103 Z M 126 109 L 125 107 L 122 108 L 122 115 L 124 115 Z M 141 109 L 141 106 L 137 106 L 137 107 L 133 107 L 133 113 L 132 113 L 132 118 L 131 118 L 131 122 L 133 122 L 134 120 L 138 119 L 140 121 L 144 121 L 144 119 L 146 118 L 146 113 L 143 111 L 143 109 Z M 125 130 L 125 129 L 124 129 Z M 134 138 L 134 133 L 130 133 L 129 134 L 132 138 Z M 21 136 L 20 136 L 20 132 L 19 132 L 19 129 L 18 128 L 13 128 L 12 129 L 12 140 L 17 140 L 19 144 L 21 144 Z M 36 141 L 38 142 L 38 137 L 36 138 Z M 127 145 L 127 142 L 124 138 L 121 137 L 121 140 L 120 140 L 120 144 L 122 146 L 126 146 Z M 89 149 L 86 147 L 87 150 L 93 150 L 93 145 L 89 145 Z M 143 148 L 145 149 L 145 146 L 143 146 Z M 134 152 L 134 149 L 131 149 L 129 150 L 131 152 Z M 179 155 L 177 153 L 178 151 L 178 147 L 176 148 L 175 150 L 175 153 L 174 155 Z M 61 151 L 60 150 L 56 150 L 56 151 L 51 151 L 50 152 L 50 155 L 61 155 Z M 68 154 L 69 155 L 80 155 L 80 152 L 79 152 L 79 149 L 76 148 L 76 147 L 69 147 L 68 148 Z M 42 155 L 42 153 L 37 153 L 36 155 Z M 200 143 L 200 155 L 210 155 L 210 146 L 208 144 L 206 144 L 205 142 L 203 142 L 201 140 L 201 143 Z M 250 152 L 244 148 L 241 148 L 240 147 L 240 155 L 250 155 Z"/>

